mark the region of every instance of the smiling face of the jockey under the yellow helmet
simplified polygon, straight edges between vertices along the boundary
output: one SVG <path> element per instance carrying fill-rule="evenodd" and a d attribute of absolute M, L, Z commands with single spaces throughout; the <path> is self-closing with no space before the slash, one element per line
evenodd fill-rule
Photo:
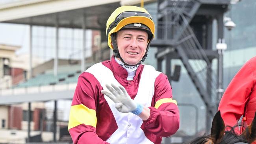
<path fill-rule="evenodd" d="M 148 33 L 136 29 L 121 30 L 117 32 L 116 41 L 124 62 L 128 65 L 136 65 L 146 53 Z"/>

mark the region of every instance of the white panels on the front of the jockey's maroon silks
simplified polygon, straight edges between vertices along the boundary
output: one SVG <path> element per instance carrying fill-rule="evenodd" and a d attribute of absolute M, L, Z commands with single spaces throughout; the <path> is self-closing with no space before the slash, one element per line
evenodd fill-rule
<path fill-rule="evenodd" d="M 105 86 L 106 84 L 114 83 L 120 85 L 114 78 L 111 70 L 102 65 L 102 63 L 93 65 L 91 68 L 87 69 L 86 72 L 93 74 L 104 90 L 108 90 Z M 139 89 L 134 99 L 135 102 L 150 107 L 154 95 L 154 82 L 159 74 L 160 72 L 157 72 L 154 67 L 148 65 L 144 66 L 139 82 Z M 153 142 L 145 137 L 141 129 L 143 121 L 139 116 L 132 113 L 121 113 L 117 111 L 115 103 L 109 99 L 108 96 L 105 96 L 105 99 L 108 102 L 118 126 L 118 129 L 108 138 L 107 142 L 111 144 L 153 144 Z"/>

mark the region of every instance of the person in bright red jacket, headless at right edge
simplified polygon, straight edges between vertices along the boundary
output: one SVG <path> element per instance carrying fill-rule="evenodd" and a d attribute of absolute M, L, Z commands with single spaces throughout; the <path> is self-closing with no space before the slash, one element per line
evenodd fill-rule
<path fill-rule="evenodd" d="M 226 126 L 235 126 L 241 116 L 243 124 L 251 124 L 256 111 L 256 57 L 247 61 L 234 76 L 221 98 L 219 110 Z M 236 129 L 236 132 L 243 130 Z"/>

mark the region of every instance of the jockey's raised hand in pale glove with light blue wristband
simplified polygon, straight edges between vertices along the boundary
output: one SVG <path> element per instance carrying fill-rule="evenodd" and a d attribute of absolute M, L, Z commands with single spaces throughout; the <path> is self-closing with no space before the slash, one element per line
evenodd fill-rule
<path fill-rule="evenodd" d="M 143 105 L 134 102 L 132 98 L 128 95 L 124 87 L 121 85 L 117 86 L 113 83 L 111 85 L 106 84 L 107 89 L 101 90 L 103 94 L 108 96 L 115 103 L 115 108 L 121 113 L 134 113 L 136 115 L 141 114 L 143 111 Z"/>

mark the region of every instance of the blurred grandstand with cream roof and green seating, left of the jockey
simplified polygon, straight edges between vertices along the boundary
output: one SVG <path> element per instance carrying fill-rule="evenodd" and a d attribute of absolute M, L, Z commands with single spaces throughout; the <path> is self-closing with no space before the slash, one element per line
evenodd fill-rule
<path fill-rule="evenodd" d="M 57 109 L 57 101 L 72 100 L 81 72 L 93 63 L 109 59 L 108 49 L 98 52 L 100 41 L 103 42 L 102 47 L 107 46 L 104 44 L 106 38 L 100 38 L 100 31 L 104 35 L 106 19 L 119 6 L 120 0 L 90 3 L 82 0 L 10 0 L 0 6 L 0 22 L 30 25 L 30 50 L 26 63 L 23 63 L 26 68 L 19 69 L 20 79 L 11 74 L 14 72 L 15 58 L 2 53 L 2 49 L 6 48 L 12 50 L 14 55 L 19 46 L 1 46 L 0 49 L 0 80 L 4 81 L 0 89 L 0 111 L 3 114 L 0 123 L 1 131 L 9 133 L 1 136 L 3 141 L 0 143 L 70 142 L 67 120 L 61 119 L 60 113 L 63 111 Z M 35 26 L 55 28 L 55 46 L 51 48 L 51 53 L 55 55 L 43 63 L 37 63 L 32 52 L 37 50 L 32 43 Z M 76 52 L 76 55 L 82 54 L 80 59 L 73 59 L 72 54 L 69 59 L 59 58 L 61 28 L 82 30 L 82 50 Z M 91 35 L 86 35 L 86 30 L 92 30 Z M 88 38 L 91 42 L 86 41 Z M 92 43 L 91 57 L 85 57 L 88 43 Z M 22 63 L 21 59 L 16 62 Z M 45 102 L 52 102 L 53 108 L 49 109 Z M 70 102 L 65 107 L 70 107 Z"/>

